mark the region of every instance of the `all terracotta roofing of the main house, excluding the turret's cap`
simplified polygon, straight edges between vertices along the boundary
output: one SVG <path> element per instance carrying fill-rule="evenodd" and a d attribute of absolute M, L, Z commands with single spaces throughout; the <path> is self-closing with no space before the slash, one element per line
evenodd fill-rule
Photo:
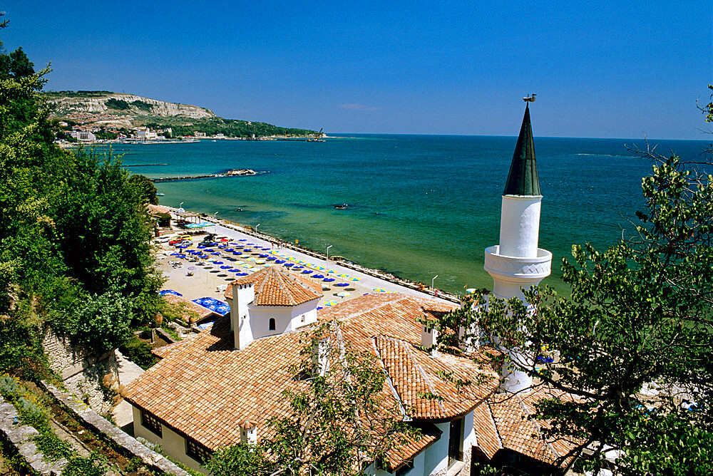
<path fill-rule="evenodd" d="M 421 324 L 416 318 L 437 316 L 451 307 L 384 294 L 319 311 L 322 322 L 342 321 L 344 343 L 380 359 L 391 382 L 384 386 L 383 395 L 401 403 L 423 425 L 421 438 L 407 438 L 389 452 L 389 467 L 398 467 L 440 438 L 429 420 L 449 420 L 471 410 L 476 443 L 489 457 L 501 447 L 550 463 L 563 455 L 566 446 L 544 441 L 539 432 L 544 423 L 530 418 L 535 401 L 549 394 L 543 390 L 525 396 L 494 394 L 498 378 L 489 368 L 466 356 L 443 352 L 431 356 L 419 348 Z M 163 360 L 130 383 L 125 398 L 211 450 L 240 441 L 240 423 L 247 419 L 257 423 L 258 437 L 265 438 L 270 418 L 289 415 L 282 392 L 305 385 L 288 369 L 302 358 L 301 338 L 308 331 L 257 339 L 236 351 L 229 319 L 217 319 L 210 330 L 159 350 Z M 473 385 L 457 388 L 454 378 Z"/>

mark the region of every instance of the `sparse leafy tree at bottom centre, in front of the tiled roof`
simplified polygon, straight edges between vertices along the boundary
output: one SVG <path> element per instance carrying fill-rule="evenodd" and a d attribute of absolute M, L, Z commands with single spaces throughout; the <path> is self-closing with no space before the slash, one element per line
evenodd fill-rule
<path fill-rule="evenodd" d="M 214 476 L 354 475 L 384 459 L 406 435 L 417 435 L 384 398 L 376 358 L 354 351 L 339 335 L 337 324 L 325 324 L 305 342 L 301 365 L 291 369 L 302 386 L 285 391 L 290 414 L 270 420 L 274 435 L 218 450 L 205 469 Z"/>

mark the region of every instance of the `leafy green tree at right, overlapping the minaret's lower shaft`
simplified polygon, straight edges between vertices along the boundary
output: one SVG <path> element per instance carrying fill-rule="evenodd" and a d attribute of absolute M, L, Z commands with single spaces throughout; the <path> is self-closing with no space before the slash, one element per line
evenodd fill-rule
<path fill-rule="evenodd" d="M 525 371 L 573 396 L 540 401 L 535 416 L 550 421 L 545 433 L 573 442 L 572 455 L 593 452 L 582 467 L 710 474 L 713 166 L 643 152 L 653 166 L 636 233 L 604 252 L 574 246 L 562 264 L 571 296 L 530 289 L 528 309 L 481 292 L 439 323 L 439 335 L 450 328 L 457 338 L 465 326 L 530 356 Z"/>

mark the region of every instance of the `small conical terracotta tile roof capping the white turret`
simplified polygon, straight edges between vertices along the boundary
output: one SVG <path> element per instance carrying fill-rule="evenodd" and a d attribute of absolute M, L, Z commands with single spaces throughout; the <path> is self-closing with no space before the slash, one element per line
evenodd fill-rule
<path fill-rule="evenodd" d="M 225 289 L 227 299 L 232 299 L 233 284 L 255 286 L 254 306 L 297 306 L 324 296 L 319 284 L 279 267 L 264 268 L 232 281 Z"/>

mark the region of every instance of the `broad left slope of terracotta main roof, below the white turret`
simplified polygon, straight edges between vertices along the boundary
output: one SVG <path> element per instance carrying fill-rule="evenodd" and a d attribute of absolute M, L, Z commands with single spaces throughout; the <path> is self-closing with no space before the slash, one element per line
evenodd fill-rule
<path fill-rule="evenodd" d="M 233 348 L 230 320 L 181 341 L 130 383 L 124 397 L 211 450 L 240 441 L 239 423 L 287 415 L 282 391 L 299 386 L 288 367 L 299 363 L 301 333 Z M 260 435 L 260 433 L 259 433 Z"/>

